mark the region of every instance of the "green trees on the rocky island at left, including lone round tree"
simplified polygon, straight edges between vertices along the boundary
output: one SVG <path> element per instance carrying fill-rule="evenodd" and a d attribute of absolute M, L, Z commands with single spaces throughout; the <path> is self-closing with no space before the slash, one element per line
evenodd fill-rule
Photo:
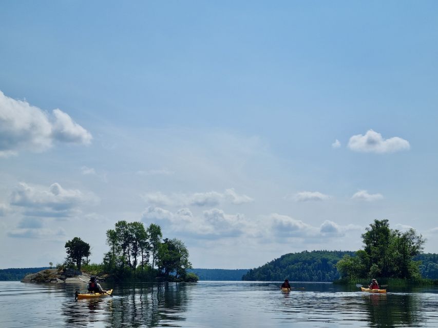
<path fill-rule="evenodd" d="M 90 245 L 74 237 L 65 244 L 64 266 L 84 268 L 115 281 L 197 281 L 194 273 L 187 272 L 192 263 L 184 242 L 162 237 L 158 224 L 151 223 L 145 228 L 142 222 L 120 220 L 115 229 L 106 231 L 110 250 L 104 254 L 101 264 L 89 264 Z"/>

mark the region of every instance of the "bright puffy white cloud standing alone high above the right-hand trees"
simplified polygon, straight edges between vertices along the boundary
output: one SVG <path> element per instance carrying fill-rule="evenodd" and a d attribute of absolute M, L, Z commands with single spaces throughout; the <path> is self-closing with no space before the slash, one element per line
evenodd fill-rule
<path fill-rule="evenodd" d="M 393 153 L 409 150 L 409 142 L 399 137 L 384 139 L 380 133 L 368 130 L 365 135 L 353 135 L 348 141 L 348 147 L 357 152 Z"/>

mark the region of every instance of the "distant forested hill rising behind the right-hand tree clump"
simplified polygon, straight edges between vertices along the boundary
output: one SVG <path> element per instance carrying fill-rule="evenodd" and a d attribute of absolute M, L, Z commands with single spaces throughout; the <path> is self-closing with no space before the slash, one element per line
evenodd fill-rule
<path fill-rule="evenodd" d="M 289 253 L 251 269 L 242 280 L 251 281 L 333 281 L 339 278 L 334 264 L 350 251 L 304 251 Z"/>

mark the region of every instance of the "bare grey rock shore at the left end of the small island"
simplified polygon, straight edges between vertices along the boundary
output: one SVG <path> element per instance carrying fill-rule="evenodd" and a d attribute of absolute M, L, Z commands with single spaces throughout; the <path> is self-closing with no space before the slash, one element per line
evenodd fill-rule
<path fill-rule="evenodd" d="M 45 269 L 37 273 L 32 273 L 24 277 L 21 282 L 65 282 L 65 283 L 78 283 L 88 282 L 90 280 L 90 274 L 73 269 Z M 105 281 L 105 276 L 96 276 L 99 281 Z M 82 280 L 81 280 L 82 279 Z"/>

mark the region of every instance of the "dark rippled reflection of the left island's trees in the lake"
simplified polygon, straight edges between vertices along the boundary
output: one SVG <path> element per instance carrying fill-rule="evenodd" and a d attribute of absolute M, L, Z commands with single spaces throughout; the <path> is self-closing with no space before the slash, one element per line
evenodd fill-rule
<path fill-rule="evenodd" d="M 115 287 L 111 298 L 69 299 L 62 314 L 68 327 L 97 322 L 105 327 L 175 326 L 185 320 L 190 289 L 186 283 L 124 284 Z"/>

